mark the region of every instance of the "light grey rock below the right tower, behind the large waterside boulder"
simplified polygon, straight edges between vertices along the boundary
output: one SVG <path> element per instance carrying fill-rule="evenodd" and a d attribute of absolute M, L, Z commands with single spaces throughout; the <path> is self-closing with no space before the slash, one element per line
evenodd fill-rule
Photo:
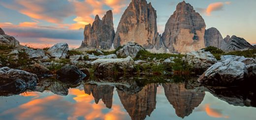
<path fill-rule="evenodd" d="M 186 54 L 186 60 L 195 69 L 206 70 L 217 62 L 217 59 L 209 51 L 198 50 Z"/>

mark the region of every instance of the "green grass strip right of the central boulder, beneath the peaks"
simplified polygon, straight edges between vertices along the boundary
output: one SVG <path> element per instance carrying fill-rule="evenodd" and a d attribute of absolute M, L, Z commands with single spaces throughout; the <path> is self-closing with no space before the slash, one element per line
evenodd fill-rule
<path fill-rule="evenodd" d="M 168 53 L 151 53 L 147 50 L 140 50 L 137 54 L 137 56 L 134 58 L 134 60 L 148 60 L 150 58 L 151 60 L 156 58 L 157 60 L 165 60 L 170 57 L 184 57 L 185 55 L 182 54 L 168 54 Z"/>

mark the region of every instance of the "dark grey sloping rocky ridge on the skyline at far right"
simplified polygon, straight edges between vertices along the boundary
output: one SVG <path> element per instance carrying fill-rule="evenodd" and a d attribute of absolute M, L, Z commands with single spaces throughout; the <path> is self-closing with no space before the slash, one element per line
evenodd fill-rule
<path fill-rule="evenodd" d="M 226 45 L 223 46 L 224 51 L 238 51 L 238 50 L 248 50 L 248 49 L 255 49 L 256 47 L 252 46 L 250 43 L 248 43 L 245 39 L 232 36 L 226 36 L 224 38 L 224 41 L 226 42 Z"/>

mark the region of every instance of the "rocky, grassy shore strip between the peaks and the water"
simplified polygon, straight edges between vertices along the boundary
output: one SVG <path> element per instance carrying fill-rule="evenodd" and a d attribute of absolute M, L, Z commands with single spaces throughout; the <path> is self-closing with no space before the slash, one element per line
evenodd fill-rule
<path fill-rule="evenodd" d="M 42 78 L 74 84 L 95 75 L 193 74 L 200 76 L 198 82 L 207 86 L 239 86 L 256 79 L 255 58 L 235 55 L 216 58 L 216 54 L 207 49 L 185 55 L 156 54 L 136 43 L 128 43 L 115 51 L 69 50 L 66 43 L 59 43 L 44 49 L 6 44 L 1 45 L 0 52 L 0 90 L 11 93 L 33 90 Z M 12 91 L 9 88 L 13 88 Z"/>

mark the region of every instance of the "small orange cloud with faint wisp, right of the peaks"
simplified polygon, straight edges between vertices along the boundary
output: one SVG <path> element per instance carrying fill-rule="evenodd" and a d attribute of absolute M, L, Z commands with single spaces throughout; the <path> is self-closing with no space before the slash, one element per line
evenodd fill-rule
<path fill-rule="evenodd" d="M 231 4 L 230 1 L 226 2 L 215 2 L 208 5 L 207 8 L 196 8 L 201 13 L 206 14 L 207 16 L 211 16 L 211 13 L 214 11 L 221 11 L 225 4 Z"/>

